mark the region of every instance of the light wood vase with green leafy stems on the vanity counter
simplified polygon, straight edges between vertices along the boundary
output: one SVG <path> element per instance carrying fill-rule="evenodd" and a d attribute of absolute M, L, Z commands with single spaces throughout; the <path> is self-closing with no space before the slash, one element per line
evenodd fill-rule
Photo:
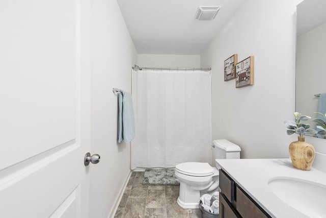
<path fill-rule="evenodd" d="M 304 171 L 309 171 L 312 163 L 315 159 L 315 149 L 314 147 L 305 141 L 304 135 L 315 135 L 316 130 L 310 129 L 309 124 L 304 124 L 302 122 L 311 119 L 310 116 L 301 115 L 301 113 L 294 112 L 294 121 L 285 120 L 284 124 L 288 128 L 286 133 L 292 135 L 297 133 L 297 141 L 293 141 L 289 146 L 289 154 L 293 167 L 302 169 Z"/>

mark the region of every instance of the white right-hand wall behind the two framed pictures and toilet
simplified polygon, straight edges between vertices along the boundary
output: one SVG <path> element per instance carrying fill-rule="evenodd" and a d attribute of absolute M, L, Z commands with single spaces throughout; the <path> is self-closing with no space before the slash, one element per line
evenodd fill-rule
<path fill-rule="evenodd" d="M 295 105 L 295 11 L 300 1 L 244 2 L 201 54 L 212 67 L 212 138 L 241 147 L 241 158 L 287 158 L 295 136 L 283 121 Z M 224 60 L 255 57 L 255 84 L 224 82 Z"/>

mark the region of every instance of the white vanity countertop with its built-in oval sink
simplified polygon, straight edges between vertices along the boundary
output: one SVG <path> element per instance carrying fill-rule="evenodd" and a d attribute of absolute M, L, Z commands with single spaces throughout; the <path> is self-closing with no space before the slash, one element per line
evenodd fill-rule
<path fill-rule="evenodd" d="M 310 171 L 294 168 L 290 159 L 215 162 L 271 217 L 326 217 L 326 173 L 318 168 L 324 162 L 314 164 Z"/>

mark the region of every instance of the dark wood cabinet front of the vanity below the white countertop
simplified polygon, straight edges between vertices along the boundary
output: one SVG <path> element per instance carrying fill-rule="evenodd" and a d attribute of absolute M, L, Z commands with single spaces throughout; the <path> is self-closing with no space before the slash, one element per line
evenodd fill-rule
<path fill-rule="evenodd" d="M 223 169 L 220 169 L 220 188 L 220 218 L 271 217 Z"/>

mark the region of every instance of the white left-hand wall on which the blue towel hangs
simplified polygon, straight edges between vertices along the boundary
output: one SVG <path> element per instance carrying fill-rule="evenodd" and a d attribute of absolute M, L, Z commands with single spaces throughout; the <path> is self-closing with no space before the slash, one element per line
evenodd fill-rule
<path fill-rule="evenodd" d="M 130 144 L 117 143 L 118 98 L 112 88 L 131 92 L 137 52 L 116 1 L 90 1 L 91 147 L 101 161 L 90 165 L 90 215 L 114 216 L 130 173 Z"/>

